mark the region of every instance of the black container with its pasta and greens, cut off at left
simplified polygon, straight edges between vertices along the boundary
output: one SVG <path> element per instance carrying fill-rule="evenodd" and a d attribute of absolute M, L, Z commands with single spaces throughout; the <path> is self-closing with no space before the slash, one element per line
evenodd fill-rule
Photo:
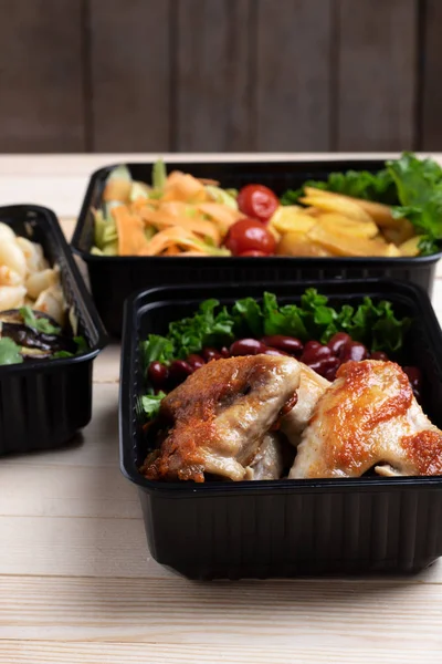
<path fill-rule="evenodd" d="M 0 455 L 51 449 L 91 419 L 106 335 L 55 215 L 0 208 Z"/>

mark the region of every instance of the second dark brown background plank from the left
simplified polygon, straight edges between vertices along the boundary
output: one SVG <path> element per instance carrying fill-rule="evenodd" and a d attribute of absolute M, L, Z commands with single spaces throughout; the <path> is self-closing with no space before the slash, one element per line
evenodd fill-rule
<path fill-rule="evenodd" d="M 95 152 L 169 148 L 169 0 L 88 0 Z"/>

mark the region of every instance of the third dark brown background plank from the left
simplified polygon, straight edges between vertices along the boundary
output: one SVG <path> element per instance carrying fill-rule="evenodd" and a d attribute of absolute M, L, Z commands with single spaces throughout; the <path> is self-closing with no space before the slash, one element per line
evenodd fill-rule
<path fill-rule="evenodd" d="M 179 0 L 177 151 L 255 148 L 251 0 Z"/>

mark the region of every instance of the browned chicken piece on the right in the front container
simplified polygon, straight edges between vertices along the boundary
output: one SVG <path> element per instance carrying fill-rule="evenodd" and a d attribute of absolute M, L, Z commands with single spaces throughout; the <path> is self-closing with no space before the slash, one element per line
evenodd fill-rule
<path fill-rule="evenodd" d="M 293 479 L 442 475 L 442 432 L 423 414 L 393 362 L 347 362 L 319 398 L 290 473 Z"/>

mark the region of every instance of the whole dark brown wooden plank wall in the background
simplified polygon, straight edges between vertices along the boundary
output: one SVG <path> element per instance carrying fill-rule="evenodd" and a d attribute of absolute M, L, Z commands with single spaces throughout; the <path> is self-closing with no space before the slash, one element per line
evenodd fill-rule
<path fill-rule="evenodd" d="M 442 0 L 0 0 L 0 152 L 442 149 Z"/>

